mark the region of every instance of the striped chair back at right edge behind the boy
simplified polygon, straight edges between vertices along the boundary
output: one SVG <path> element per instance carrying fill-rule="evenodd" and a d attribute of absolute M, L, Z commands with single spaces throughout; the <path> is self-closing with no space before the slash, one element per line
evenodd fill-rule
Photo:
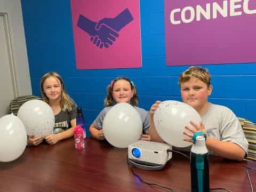
<path fill-rule="evenodd" d="M 248 156 L 245 159 L 256 161 L 256 125 L 245 118 L 238 117 L 238 119 L 249 142 Z"/>

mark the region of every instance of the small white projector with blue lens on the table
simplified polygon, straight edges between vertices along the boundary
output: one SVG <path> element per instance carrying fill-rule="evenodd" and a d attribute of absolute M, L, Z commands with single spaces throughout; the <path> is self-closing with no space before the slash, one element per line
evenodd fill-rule
<path fill-rule="evenodd" d="M 145 170 L 162 169 L 172 158 L 171 145 L 153 141 L 136 141 L 128 146 L 128 161 L 135 167 Z"/>

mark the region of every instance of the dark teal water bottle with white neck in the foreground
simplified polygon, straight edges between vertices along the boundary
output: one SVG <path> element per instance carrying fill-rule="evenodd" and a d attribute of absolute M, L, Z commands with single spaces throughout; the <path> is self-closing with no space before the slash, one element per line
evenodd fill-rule
<path fill-rule="evenodd" d="M 202 131 L 193 135 L 190 153 L 191 191 L 210 191 L 209 154 L 205 145 L 206 134 Z"/>

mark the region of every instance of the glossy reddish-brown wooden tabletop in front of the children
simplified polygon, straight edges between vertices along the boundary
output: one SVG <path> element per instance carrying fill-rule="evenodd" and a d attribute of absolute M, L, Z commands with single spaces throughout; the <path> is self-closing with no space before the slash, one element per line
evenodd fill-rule
<path fill-rule="evenodd" d="M 210 188 L 251 191 L 243 164 L 255 169 L 256 162 L 235 162 L 214 156 L 210 156 L 209 161 Z M 191 190 L 190 163 L 180 154 L 173 153 L 173 158 L 162 170 L 132 169 L 147 182 L 169 187 L 173 191 Z M 256 189 L 256 172 L 249 170 L 249 173 Z M 27 147 L 15 161 L 0 162 L 0 191 L 170 190 L 148 186 L 133 175 L 127 165 L 127 149 L 86 138 L 85 149 L 77 150 L 74 139 L 70 138 L 52 146 Z"/>

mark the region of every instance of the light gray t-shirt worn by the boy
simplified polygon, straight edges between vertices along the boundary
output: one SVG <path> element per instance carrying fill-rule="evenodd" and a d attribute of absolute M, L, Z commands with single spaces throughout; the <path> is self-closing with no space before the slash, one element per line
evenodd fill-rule
<path fill-rule="evenodd" d="M 225 106 L 210 103 L 209 109 L 205 111 L 205 114 L 201 118 L 205 130 L 211 138 L 236 143 L 247 153 L 249 144 L 245 138 L 241 124 L 233 111 Z M 213 154 L 213 152 L 209 151 L 209 154 Z"/>

